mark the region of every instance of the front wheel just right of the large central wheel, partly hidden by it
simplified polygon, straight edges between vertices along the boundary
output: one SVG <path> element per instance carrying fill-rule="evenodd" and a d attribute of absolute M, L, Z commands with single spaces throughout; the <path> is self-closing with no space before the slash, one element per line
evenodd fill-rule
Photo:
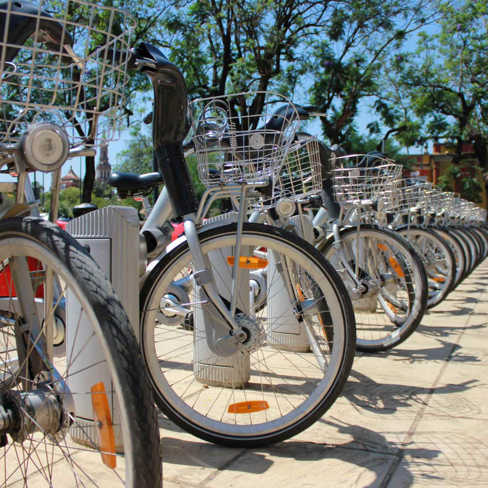
<path fill-rule="evenodd" d="M 356 348 L 379 352 L 397 346 L 426 312 L 427 275 L 420 256 L 406 239 L 375 225 L 362 224 L 359 240 L 356 227 L 341 230 L 340 237 L 341 248 L 331 238 L 319 250 L 356 294 Z"/>

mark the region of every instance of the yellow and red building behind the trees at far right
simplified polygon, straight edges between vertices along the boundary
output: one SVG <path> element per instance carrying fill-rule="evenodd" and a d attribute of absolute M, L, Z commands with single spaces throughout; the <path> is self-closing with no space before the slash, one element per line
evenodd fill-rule
<path fill-rule="evenodd" d="M 422 178 L 428 182 L 437 183 L 439 177 L 447 174 L 449 166 L 453 164 L 455 156 L 455 146 L 452 144 L 435 143 L 432 154 L 427 152 L 424 154 L 412 154 L 410 160 L 413 163 L 408 171 L 403 174 L 406 178 Z M 464 173 L 471 173 L 474 171 L 473 166 L 479 165 L 478 159 L 474 153 L 472 144 L 463 144 L 461 154 L 463 155 L 462 164 Z M 481 175 L 480 175 L 481 176 Z M 452 187 L 457 193 L 462 193 L 463 179 L 452 182 Z M 487 208 L 487 194 L 485 190 L 484 178 L 481 178 L 482 190 L 480 198 L 482 202 L 477 203 L 482 208 Z"/>

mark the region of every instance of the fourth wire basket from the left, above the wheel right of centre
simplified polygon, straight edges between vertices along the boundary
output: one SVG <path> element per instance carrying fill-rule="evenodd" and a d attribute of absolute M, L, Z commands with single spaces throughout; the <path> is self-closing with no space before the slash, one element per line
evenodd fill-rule
<path fill-rule="evenodd" d="M 390 204 L 403 167 L 376 156 L 355 154 L 332 158 L 334 200 L 341 206 L 371 203 L 382 197 Z"/>

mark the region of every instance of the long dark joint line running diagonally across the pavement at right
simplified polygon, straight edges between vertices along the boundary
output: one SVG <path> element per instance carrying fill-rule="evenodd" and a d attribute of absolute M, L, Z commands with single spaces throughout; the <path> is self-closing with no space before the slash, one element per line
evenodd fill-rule
<path fill-rule="evenodd" d="M 480 296 L 485 291 L 485 289 L 486 289 L 486 285 L 485 285 L 485 287 L 483 289 L 481 289 L 479 291 L 479 295 Z M 471 311 L 474 310 L 474 308 L 476 307 L 476 305 L 479 304 L 479 302 L 480 302 L 480 300 L 478 298 L 476 300 L 476 302 L 474 302 L 472 304 Z M 464 327 L 459 331 L 459 334 L 458 334 L 458 336 L 456 338 L 456 342 L 452 345 L 452 347 L 451 347 L 451 349 L 449 351 L 449 354 L 447 355 L 447 358 L 444 360 L 444 364 L 442 365 L 441 370 L 439 371 L 439 373 L 437 374 L 434 382 L 432 383 L 432 387 L 429 389 L 429 392 L 427 393 L 427 396 L 425 398 L 425 401 L 423 402 L 422 406 L 420 407 L 419 411 L 417 412 L 417 415 L 415 416 L 415 419 L 413 420 L 412 425 L 408 429 L 408 432 L 407 432 L 407 435 L 405 436 L 405 439 L 403 440 L 402 443 L 400 443 L 403 446 L 408 446 L 410 444 L 411 439 L 412 439 L 413 435 L 415 434 L 415 431 L 417 430 L 417 427 L 418 427 L 420 421 L 423 419 L 423 417 L 424 417 L 424 415 L 426 413 L 426 409 L 427 409 L 428 404 L 430 403 L 430 400 L 432 398 L 432 395 L 434 394 L 437 386 L 439 385 L 440 380 L 441 380 L 441 377 L 445 373 L 445 371 L 447 369 L 447 366 L 450 363 L 450 360 L 452 358 L 453 353 L 458 348 L 462 336 L 466 332 L 466 329 L 467 329 L 467 327 L 469 325 L 469 319 L 471 318 L 471 312 L 469 312 L 467 315 L 468 315 L 468 317 L 466 319 L 466 322 L 465 322 Z M 404 447 L 400 447 L 398 453 L 395 454 L 394 457 L 395 457 L 395 459 L 393 460 L 393 463 L 391 464 L 391 466 L 389 467 L 388 471 L 386 472 L 386 475 L 383 478 L 383 481 L 380 484 L 379 488 L 387 488 L 389 486 L 390 481 L 393 479 L 393 476 L 395 475 L 398 467 L 400 466 L 400 463 L 403 461 L 403 459 L 405 457 L 405 448 Z"/>

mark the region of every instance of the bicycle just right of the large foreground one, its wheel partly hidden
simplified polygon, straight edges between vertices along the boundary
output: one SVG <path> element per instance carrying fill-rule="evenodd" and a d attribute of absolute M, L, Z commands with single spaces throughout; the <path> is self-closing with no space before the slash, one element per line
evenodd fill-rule
<path fill-rule="evenodd" d="M 322 205 L 313 217 L 316 247 L 346 282 L 356 348 L 379 352 L 405 341 L 427 306 L 420 256 L 402 236 L 374 224 L 392 198 L 401 167 L 379 153 L 346 156 L 321 143 Z"/>

